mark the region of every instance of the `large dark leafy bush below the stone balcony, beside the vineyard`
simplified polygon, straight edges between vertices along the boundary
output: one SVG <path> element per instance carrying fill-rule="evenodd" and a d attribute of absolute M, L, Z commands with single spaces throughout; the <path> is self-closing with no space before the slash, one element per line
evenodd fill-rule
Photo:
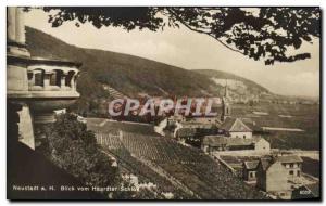
<path fill-rule="evenodd" d="M 117 183 L 117 169 L 112 160 L 99 151 L 92 131 L 76 120 L 75 115 L 58 117 L 51 127 L 45 127 L 45 154 L 86 185 L 113 186 Z"/>

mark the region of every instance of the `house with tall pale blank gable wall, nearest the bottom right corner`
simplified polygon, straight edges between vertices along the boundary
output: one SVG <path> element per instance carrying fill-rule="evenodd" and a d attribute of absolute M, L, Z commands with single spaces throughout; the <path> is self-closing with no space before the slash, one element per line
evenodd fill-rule
<path fill-rule="evenodd" d="M 256 186 L 283 199 L 291 198 L 288 170 L 276 158 L 261 158 L 258 164 Z"/>

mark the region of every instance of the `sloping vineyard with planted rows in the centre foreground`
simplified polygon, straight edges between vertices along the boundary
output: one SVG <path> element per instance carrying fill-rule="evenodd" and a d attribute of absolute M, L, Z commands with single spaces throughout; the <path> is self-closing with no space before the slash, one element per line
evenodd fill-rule
<path fill-rule="evenodd" d="M 198 149 L 143 131 L 131 133 L 124 127 L 92 128 L 99 144 L 117 158 L 120 167 L 138 176 L 139 181 L 155 183 L 156 194 L 172 192 L 175 198 L 265 198 Z"/>

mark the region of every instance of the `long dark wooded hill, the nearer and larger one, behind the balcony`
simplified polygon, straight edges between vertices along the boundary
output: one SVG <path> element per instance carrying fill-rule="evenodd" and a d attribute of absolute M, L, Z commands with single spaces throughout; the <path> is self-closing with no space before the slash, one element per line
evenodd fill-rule
<path fill-rule="evenodd" d="M 210 88 L 213 82 L 203 75 L 179 67 L 127 54 L 77 48 L 29 27 L 26 38 L 32 55 L 82 62 L 82 70 L 91 75 L 91 80 L 109 83 L 127 95 L 141 92 L 150 95 L 162 95 L 164 92 L 205 95 L 214 91 Z M 84 80 L 85 75 L 80 78 Z M 79 81 L 80 87 L 86 83 L 83 80 Z"/>

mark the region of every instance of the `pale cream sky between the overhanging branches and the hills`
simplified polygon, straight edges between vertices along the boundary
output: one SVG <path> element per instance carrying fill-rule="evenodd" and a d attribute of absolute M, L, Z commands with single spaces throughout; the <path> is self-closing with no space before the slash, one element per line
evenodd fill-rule
<path fill-rule="evenodd" d="M 34 10 L 25 14 L 25 24 L 50 34 L 70 44 L 137 55 L 186 69 L 216 69 L 233 73 L 284 95 L 319 95 L 319 40 L 304 43 L 300 50 L 312 57 L 294 63 L 266 66 L 234 52 L 208 35 L 186 27 L 165 28 L 163 31 L 131 30 L 118 27 L 93 27 L 89 23 L 76 27 L 65 23 L 53 28 L 48 13 Z"/>

